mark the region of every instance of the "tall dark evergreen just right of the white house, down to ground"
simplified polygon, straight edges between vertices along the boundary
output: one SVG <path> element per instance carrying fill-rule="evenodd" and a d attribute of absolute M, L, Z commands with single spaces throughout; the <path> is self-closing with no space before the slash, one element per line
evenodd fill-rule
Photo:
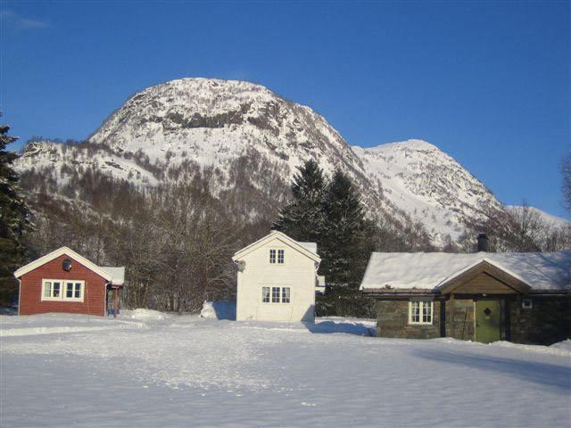
<path fill-rule="evenodd" d="M 329 289 L 319 301 L 321 310 L 329 315 L 367 315 L 370 302 L 361 297 L 359 286 L 374 251 L 376 227 L 365 218 L 359 192 L 340 170 L 327 185 L 322 211 L 319 272 Z"/>

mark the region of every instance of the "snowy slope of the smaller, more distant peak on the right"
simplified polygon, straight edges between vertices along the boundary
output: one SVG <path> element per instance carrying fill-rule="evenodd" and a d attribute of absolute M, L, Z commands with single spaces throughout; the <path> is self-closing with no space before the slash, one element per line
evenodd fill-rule
<path fill-rule="evenodd" d="M 493 194 L 467 169 L 433 144 L 422 140 L 353 146 L 363 168 L 380 181 L 385 198 L 431 233 L 457 237 L 478 207 L 489 203 L 500 209 Z"/>

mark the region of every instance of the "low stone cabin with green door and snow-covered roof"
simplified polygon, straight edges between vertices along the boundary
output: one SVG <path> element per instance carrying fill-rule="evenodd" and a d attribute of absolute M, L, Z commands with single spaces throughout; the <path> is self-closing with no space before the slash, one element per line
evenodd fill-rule
<path fill-rule="evenodd" d="M 571 337 L 571 251 L 374 252 L 377 336 L 551 344 Z"/>

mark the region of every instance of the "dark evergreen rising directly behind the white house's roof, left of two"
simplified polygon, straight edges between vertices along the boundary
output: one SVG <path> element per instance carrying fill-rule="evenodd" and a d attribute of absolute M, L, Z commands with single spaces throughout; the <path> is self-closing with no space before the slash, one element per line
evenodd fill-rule
<path fill-rule="evenodd" d="M 296 241 L 319 243 L 326 179 L 313 160 L 306 161 L 298 171 L 291 186 L 294 201 L 279 211 L 274 227 Z"/>

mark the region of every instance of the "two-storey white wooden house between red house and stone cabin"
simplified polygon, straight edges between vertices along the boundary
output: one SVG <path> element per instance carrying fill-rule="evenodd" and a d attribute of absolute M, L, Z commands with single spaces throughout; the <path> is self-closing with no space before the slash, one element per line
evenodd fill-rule
<path fill-rule="evenodd" d="M 236 320 L 313 322 L 315 293 L 325 288 L 317 250 L 272 231 L 237 251 Z"/>

